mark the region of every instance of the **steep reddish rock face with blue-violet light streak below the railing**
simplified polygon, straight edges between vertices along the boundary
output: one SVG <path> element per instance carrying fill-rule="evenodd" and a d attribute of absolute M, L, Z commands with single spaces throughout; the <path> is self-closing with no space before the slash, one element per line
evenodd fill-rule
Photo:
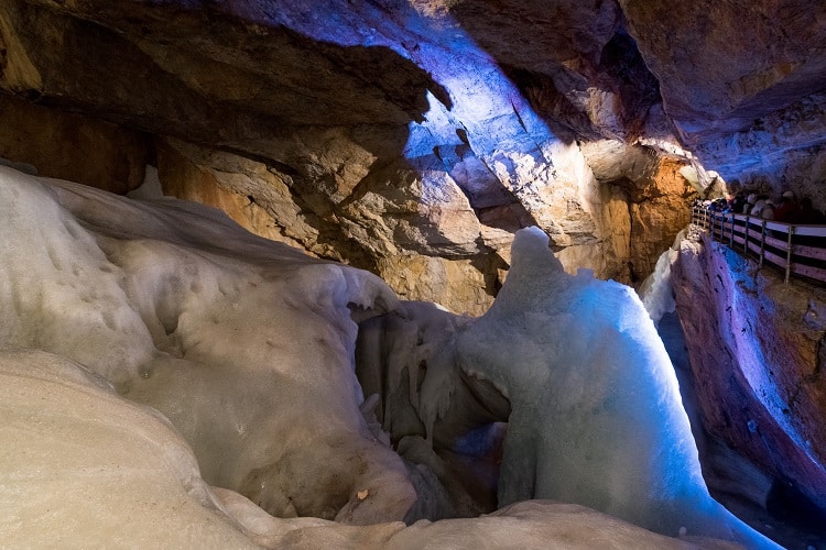
<path fill-rule="evenodd" d="M 707 240 L 683 241 L 672 284 L 707 429 L 826 507 L 826 294 Z"/>

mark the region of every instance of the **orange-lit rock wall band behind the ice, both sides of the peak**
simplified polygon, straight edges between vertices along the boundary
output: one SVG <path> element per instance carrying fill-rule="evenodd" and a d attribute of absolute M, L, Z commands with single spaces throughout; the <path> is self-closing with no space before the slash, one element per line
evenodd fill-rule
<path fill-rule="evenodd" d="M 370 270 L 404 298 L 471 315 L 483 312 L 501 286 L 512 233 L 536 218 L 572 273 L 585 266 L 634 283 L 653 268 L 687 222 L 694 191 L 677 173 L 681 162 L 634 151 L 650 164 L 643 173 L 589 177 L 587 185 L 572 179 L 545 189 L 546 201 L 474 209 L 457 182 L 437 169 L 396 164 L 349 194 L 306 189 L 260 160 L 156 140 L 165 195 L 217 207 L 251 232 L 312 255 Z M 590 174 L 590 160 L 579 157 Z"/>

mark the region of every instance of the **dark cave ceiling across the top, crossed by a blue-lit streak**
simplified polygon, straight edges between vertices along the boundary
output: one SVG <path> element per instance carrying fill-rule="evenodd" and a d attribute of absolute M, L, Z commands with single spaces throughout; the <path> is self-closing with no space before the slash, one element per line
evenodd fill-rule
<path fill-rule="evenodd" d="M 293 128 L 398 147 L 430 95 L 467 132 L 442 141 L 507 136 L 510 99 L 569 139 L 673 131 L 715 169 L 784 110 L 823 118 L 826 89 L 826 8 L 802 0 L 10 0 L 0 38 L 6 91 L 287 161 Z"/>

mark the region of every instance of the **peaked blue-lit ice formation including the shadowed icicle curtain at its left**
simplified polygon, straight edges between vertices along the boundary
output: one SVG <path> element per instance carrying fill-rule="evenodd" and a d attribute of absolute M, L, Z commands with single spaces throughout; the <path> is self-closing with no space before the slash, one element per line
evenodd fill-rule
<path fill-rule="evenodd" d="M 667 278 L 656 286 L 653 302 L 667 301 Z M 485 316 L 417 305 L 363 323 L 360 338 L 362 384 L 384 396 L 393 439 L 426 439 L 454 458 L 461 435 L 508 421 L 500 506 L 547 498 L 669 536 L 774 547 L 708 494 L 674 367 L 641 299 L 588 271 L 566 274 L 541 230 L 517 233 Z M 421 446 L 411 454 L 437 475 L 448 462 Z"/>

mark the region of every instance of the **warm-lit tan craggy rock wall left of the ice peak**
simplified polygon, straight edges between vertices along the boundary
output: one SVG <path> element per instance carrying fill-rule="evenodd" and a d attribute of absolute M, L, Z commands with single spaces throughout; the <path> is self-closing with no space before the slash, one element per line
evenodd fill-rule
<path fill-rule="evenodd" d="M 477 315 L 490 305 L 479 220 L 444 172 L 420 177 L 393 165 L 349 193 L 306 195 L 289 175 L 237 154 L 172 139 L 157 151 L 166 195 L 220 208 L 251 232 L 313 255 L 370 266 L 409 299 Z"/>

